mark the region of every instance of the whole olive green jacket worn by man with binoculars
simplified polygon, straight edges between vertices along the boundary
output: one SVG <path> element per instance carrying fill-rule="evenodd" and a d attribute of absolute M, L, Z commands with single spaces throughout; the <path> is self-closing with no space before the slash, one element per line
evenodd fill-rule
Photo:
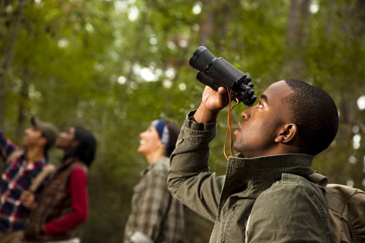
<path fill-rule="evenodd" d="M 230 157 L 227 172 L 209 171 L 216 124 L 188 114 L 170 158 L 171 194 L 215 222 L 210 243 L 329 243 L 322 191 L 309 182 L 312 156 Z M 249 219 L 250 218 L 250 219 Z"/>

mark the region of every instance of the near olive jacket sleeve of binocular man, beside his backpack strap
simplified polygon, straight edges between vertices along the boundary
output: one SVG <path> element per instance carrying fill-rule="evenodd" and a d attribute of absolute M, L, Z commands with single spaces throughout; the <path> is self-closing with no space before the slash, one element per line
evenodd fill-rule
<path fill-rule="evenodd" d="M 247 223 L 246 242 L 329 242 L 329 222 L 323 212 L 327 208 L 317 199 L 298 184 L 274 184 L 256 199 Z"/>

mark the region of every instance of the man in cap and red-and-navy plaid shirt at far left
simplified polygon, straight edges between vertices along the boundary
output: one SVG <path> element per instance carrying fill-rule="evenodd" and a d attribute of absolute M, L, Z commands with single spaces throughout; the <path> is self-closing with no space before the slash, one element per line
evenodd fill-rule
<path fill-rule="evenodd" d="M 24 151 L 0 131 L 4 169 L 0 179 L 0 243 L 21 241 L 28 210 L 20 204 L 20 195 L 48 164 L 48 150 L 57 138 L 57 130 L 52 124 L 34 118 L 31 122 L 32 127 L 24 131 Z"/>

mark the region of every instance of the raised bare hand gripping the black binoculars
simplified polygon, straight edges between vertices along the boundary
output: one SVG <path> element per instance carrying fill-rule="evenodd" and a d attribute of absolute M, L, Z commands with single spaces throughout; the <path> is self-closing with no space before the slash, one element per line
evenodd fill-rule
<path fill-rule="evenodd" d="M 194 114 L 194 120 L 211 123 L 217 120 L 218 113 L 228 104 L 227 90 L 219 87 L 218 92 L 206 86 L 201 97 L 201 104 Z"/>

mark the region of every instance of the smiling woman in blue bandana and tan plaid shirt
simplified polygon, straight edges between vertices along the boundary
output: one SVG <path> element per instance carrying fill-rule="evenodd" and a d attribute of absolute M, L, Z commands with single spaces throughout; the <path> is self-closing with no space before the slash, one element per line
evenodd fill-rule
<path fill-rule="evenodd" d="M 169 156 L 175 149 L 180 128 L 165 121 L 152 121 L 140 134 L 138 153 L 148 162 L 133 188 L 124 243 L 182 243 L 183 205 L 167 190 Z"/>

